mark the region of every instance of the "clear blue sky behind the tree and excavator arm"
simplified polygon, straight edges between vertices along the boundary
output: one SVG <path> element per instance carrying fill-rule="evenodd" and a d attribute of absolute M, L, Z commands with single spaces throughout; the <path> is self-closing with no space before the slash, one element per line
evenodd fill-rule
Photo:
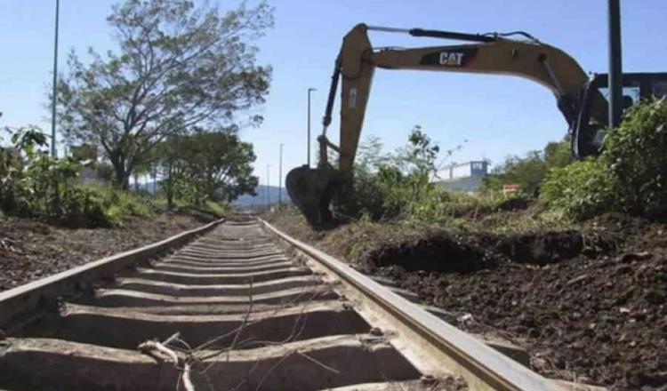
<path fill-rule="evenodd" d="M 60 66 L 67 52 L 115 49 L 105 17 L 112 0 L 61 0 Z M 607 71 L 607 0 L 273 0 L 276 27 L 259 42 L 260 60 L 274 68 L 266 120 L 243 131 L 258 155 L 262 183 L 266 166 L 277 184 L 278 146 L 285 144 L 284 172 L 306 160 L 306 91 L 313 92 L 313 133 L 320 119 L 342 36 L 358 22 L 399 28 L 433 28 L 470 33 L 525 30 L 570 53 L 587 71 Z M 51 83 L 55 0 L 0 1 L 0 126 L 39 124 L 49 129 L 46 92 Z M 214 4 L 214 3 L 213 3 Z M 237 1 L 219 2 L 222 9 Z M 623 67 L 667 71 L 663 39 L 667 1 L 623 2 Z M 376 46 L 454 44 L 374 33 Z M 338 113 L 338 108 L 334 114 Z M 335 118 L 335 116 L 334 116 Z M 550 92 L 507 76 L 474 76 L 379 70 L 366 113 L 362 139 L 381 137 L 387 150 L 405 143 L 415 124 L 442 148 L 468 140 L 456 162 L 522 155 L 559 140 L 567 124 Z M 330 134 L 337 134 L 334 119 Z M 315 145 L 313 145 L 315 147 Z M 314 150 L 315 148 L 313 148 Z"/>

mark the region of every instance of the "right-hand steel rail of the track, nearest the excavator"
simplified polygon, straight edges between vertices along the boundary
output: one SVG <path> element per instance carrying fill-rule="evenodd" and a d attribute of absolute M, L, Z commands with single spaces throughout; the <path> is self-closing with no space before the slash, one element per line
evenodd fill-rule
<path fill-rule="evenodd" d="M 422 373 L 438 375 L 446 371 L 460 375 L 473 390 L 563 391 L 557 381 L 546 379 L 502 355 L 467 333 L 400 297 L 380 283 L 338 259 L 286 235 L 269 222 L 261 223 L 286 243 L 313 260 L 324 273 L 348 287 L 346 294 L 357 296 L 356 305 L 379 315 L 382 324 L 403 338 L 403 352 Z M 356 293 L 358 292 L 358 294 Z M 364 313 L 361 308 L 360 312 Z M 408 341 L 408 343 L 406 343 Z M 414 347 L 418 351 L 414 351 Z M 410 351 L 413 350 L 413 351 Z M 436 373 L 434 373 L 436 372 Z"/>

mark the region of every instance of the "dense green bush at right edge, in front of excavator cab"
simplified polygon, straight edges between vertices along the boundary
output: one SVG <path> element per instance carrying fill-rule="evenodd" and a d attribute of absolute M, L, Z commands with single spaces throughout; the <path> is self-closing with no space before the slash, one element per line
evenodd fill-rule
<path fill-rule="evenodd" d="M 554 170 L 543 198 L 573 219 L 624 211 L 650 219 L 667 217 L 667 103 L 650 100 L 633 108 L 608 132 L 595 160 Z"/>

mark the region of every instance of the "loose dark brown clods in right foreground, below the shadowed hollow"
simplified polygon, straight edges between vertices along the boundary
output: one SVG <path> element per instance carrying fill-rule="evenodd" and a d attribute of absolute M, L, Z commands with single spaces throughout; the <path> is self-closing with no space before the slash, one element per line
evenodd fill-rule
<path fill-rule="evenodd" d="M 502 331 L 528 347 L 542 373 L 624 389 L 667 386 L 664 257 L 575 258 L 469 275 L 393 273 L 403 288 L 470 314 L 459 327 Z"/>

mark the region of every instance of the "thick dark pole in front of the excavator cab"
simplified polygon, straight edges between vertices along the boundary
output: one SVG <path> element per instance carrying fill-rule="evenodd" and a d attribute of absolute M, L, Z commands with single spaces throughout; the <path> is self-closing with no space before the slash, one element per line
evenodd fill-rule
<path fill-rule="evenodd" d="M 609 126 L 621 124 L 622 113 L 621 4 L 620 0 L 609 0 Z"/>

